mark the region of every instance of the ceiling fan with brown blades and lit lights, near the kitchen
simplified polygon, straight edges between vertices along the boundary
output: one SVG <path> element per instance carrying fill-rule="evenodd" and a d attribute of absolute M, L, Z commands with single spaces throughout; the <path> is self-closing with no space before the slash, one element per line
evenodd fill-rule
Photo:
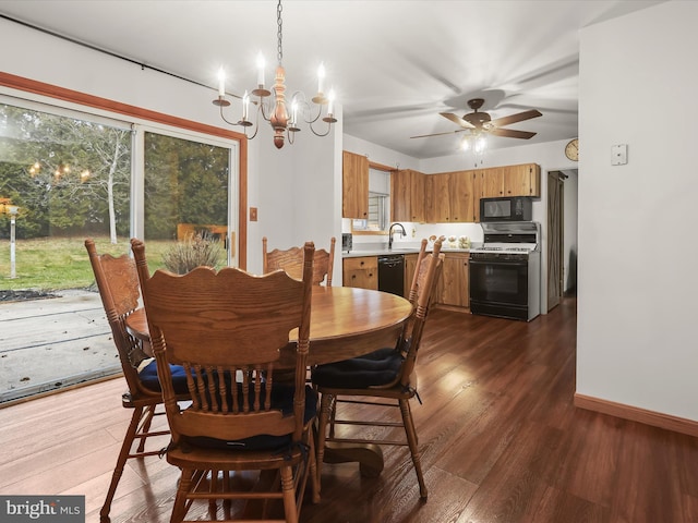
<path fill-rule="evenodd" d="M 474 134 L 489 133 L 494 136 L 503 136 L 506 138 L 522 138 L 528 139 L 535 136 L 535 133 L 529 131 L 516 131 L 514 129 L 502 129 L 505 125 L 512 123 L 522 122 L 524 120 L 530 120 L 531 118 L 542 117 L 543 114 L 537 109 L 530 109 L 528 111 L 519 112 L 517 114 L 510 114 L 508 117 L 496 118 L 492 120 L 490 114 L 484 111 L 479 111 L 484 104 L 483 98 L 473 98 L 468 100 L 468 106 L 473 112 L 464 114 L 462 118 L 454 114 L 453 112 L 440 112 L 440 114 L 454 123 L 460 125 L 461 129 L 455 131 L 448 131 L 445 133 L 422 134 L 419 136 L 411 136 L 412 138 L 425 138 L 428 136 L 440 136 L 444 134 L 460 133 L 462 131 L 472 131 Z"/>

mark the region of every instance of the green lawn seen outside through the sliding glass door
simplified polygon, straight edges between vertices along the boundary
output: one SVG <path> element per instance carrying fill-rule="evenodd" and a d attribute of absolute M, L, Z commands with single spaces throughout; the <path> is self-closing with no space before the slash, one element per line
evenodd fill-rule
<path fill-rule="evenodd" d="M 93 236 L 98 253 L 120 256 L 131 252 L 129 239 L 111 244 L 107 236 Z M 146 254 L 151 271 L 163 267 L 163 253 L 172 241 L 148 241 Z M 0 291 L 86 289 L 95 277 L 89 265 L 85 238 L 50 238 L 17 240 L 15 244 L 16 278 L 10 279 L 10 241 L 0 241 Z"/>

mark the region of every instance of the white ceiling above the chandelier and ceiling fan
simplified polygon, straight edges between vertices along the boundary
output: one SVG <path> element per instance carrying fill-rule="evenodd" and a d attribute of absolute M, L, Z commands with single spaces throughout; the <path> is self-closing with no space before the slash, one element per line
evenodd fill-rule
<path fill-rule="evenodd" d="M 438 113 L 470 112 L 476 96 L 493 119 L 543 113 L 507 126 L 533 138 L 493 137 L 490 148 L 571 138 L 579 29 L 661 1 L 286 0 L 288 94 L 316 89 L 324 62 L 344 132 L 414 158 L 456 154 L 464 133 L 410 136 L 459 129 Z M 7 17 L 210 86 L 212 100 L 221 65 L 227 92 L 242 95 L 260 51 L 275 64 L 276 11 L 276 0 L 0 0 Z"/>

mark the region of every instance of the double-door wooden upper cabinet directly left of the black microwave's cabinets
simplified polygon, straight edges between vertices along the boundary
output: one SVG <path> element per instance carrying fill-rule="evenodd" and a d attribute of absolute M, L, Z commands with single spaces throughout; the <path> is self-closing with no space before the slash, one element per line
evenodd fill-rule
<path fill-rule="evenodd" d="M 426 222 L 476 221 L 473 180 L 473 171 L 444 172 L 426 177 Z"/>

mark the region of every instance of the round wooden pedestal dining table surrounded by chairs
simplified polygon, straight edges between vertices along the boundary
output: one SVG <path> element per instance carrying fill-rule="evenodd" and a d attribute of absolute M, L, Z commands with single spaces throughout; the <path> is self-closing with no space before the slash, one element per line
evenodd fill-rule
<path fill-rule="evenodd" d="M 351 287 L 313 287 L 308 364 L 339 362 L 395 346 L 412 304 L 401 296 Z M 129 331 L 143 341 L 151 354 L 147 318 L 140 308 L 127 318 Z M 294 365 L 294 333 L 281 351 L 279 366 Z M 383 471 L 383 452 L 377 445 L 327 443 L 326 463 L 359 462 L 361 473 L 376 476 Z"/>

